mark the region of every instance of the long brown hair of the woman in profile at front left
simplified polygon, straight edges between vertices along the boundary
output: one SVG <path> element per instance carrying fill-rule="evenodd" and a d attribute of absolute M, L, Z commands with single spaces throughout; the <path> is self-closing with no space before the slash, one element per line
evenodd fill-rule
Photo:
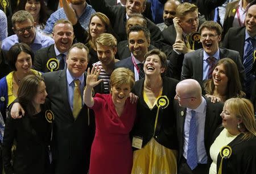
<path fill-rule="evenodd" d="M 42 81 L 44 81 L 43 77 L 31 74 L 24 77 L 20 82 L 17 98 L 20 104 L 28 112 L 28 115 L 32 116 L 35 114 L 36 109 L 32 102 L 34 101 L 34 98 L 38 93 L 38 86 Z"/>

